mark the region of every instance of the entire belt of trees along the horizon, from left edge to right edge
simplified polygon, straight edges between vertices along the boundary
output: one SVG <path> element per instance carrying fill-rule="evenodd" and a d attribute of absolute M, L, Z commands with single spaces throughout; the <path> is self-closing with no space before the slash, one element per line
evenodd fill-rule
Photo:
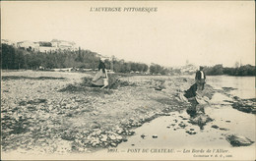
<path fill-rule="evenodd" d="M 97 69 L 99 56 L 96 52 L 90 50 L 78 51 L 53 51 L 48 53 L 34 52 L 16 48 L 12 45 L 2 44 L 2 69 L 18 70 L 30 69 L 36 70 L 39 67 L 45 69 L 54 68 L 84 68 Z M 106 59 L 105 66 L 116 73 L 148 73 L 152 75 L 175 75 L 181 74 L 178 69 L 167 69 L 158 64 L 151 64 L 149 67 L 144 63 L 125 62 L 118 60 L 114 56 Z M 208 76 L 229 75 L 229 76 L 255 76 L 255 66 L 245 65 L 235 68 L 226 68 L 223 65 L 216 65 L 213 67 L 205 67 L 204 71 Z"/>

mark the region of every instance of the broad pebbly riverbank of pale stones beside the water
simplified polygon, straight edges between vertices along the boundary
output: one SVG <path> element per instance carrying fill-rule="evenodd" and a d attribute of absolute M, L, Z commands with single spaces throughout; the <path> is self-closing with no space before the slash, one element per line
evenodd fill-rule
<path fill-rule="evenodd" d="M 186 77 L 133 76 L 99 89 L 86 85 L 93 76 L 82 73 L 23 71 L 2 77 L 2 149 L 34 154 L 115 147 L 134 128 L 189 107 L 178 95 L 194 83 Z M 160 80 L 165 89 L 156 90 Z M 211 97 L 213 88 L 206 85 L 203 94 Z"/>

